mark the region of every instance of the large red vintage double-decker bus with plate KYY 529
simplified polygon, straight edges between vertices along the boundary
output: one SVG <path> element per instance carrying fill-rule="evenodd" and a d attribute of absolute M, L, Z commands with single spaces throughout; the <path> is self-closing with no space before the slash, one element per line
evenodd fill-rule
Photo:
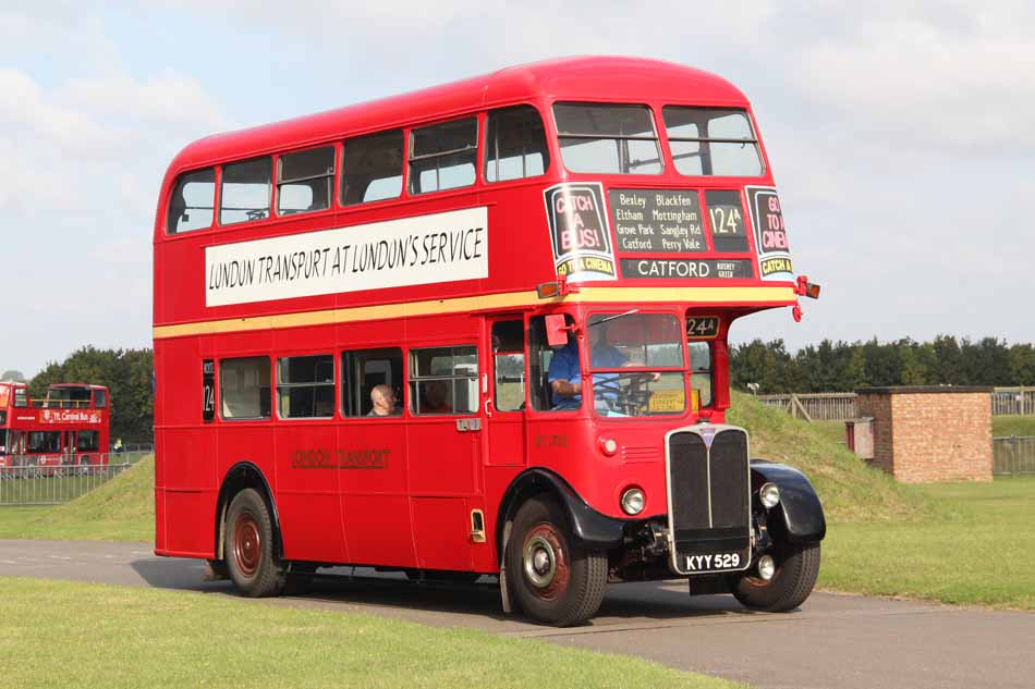
<path fill-rule="evenodd" d="M 694 69 L 544 62 L 202 139 L 155 226 L 156 553 L 249 595 L 496 575 L 558 625 L 671 577 L 790 610 L 823 509 L 724 423 L 727 334 L 814 293 L 746 98 Z"/>

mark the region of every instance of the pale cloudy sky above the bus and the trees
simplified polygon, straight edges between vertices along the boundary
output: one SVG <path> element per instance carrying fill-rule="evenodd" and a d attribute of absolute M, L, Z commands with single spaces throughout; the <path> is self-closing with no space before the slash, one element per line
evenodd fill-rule
<path fill-rule="evenodd" d="M 150 346 L 151 233 L 187 143 L 575 54 L 720 74 L 751 99 L 804 320 L 731 340 L 1035 341 L 1035 3 L 0 3 L 0 370 Z"/>

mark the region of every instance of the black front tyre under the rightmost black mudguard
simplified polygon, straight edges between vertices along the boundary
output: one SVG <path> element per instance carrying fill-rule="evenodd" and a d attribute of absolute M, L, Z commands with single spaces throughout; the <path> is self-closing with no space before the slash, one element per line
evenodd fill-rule
<path fill-rule="evenodd" d="M 744 607 L 786 613 L 805 602 L 819 576 L 819 543 L 784 544 L 770 553 L 776 573 L 766 581 L 745 575 L 733 585 L 733 595 Z"/>

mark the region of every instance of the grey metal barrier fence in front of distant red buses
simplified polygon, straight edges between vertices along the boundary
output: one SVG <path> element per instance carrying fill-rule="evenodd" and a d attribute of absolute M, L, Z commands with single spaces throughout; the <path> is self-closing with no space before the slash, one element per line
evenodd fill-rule
<path fill-rule="evenodd" d="M 95 464 L 40 465 L 33 457 L 9 455 L 0 467 L 0 507 L 60 505 L 104 485 L 150 451 L 100 455 Z"/>

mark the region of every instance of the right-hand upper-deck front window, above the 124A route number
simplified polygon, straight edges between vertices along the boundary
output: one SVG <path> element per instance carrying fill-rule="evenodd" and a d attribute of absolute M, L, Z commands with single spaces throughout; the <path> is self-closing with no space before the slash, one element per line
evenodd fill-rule
<path fill-rule="evenodd" d="M 730 177 L 762 174 L 758 139 L 743 110 L 666 106 L 661 115 L 680 174 Z"/>

